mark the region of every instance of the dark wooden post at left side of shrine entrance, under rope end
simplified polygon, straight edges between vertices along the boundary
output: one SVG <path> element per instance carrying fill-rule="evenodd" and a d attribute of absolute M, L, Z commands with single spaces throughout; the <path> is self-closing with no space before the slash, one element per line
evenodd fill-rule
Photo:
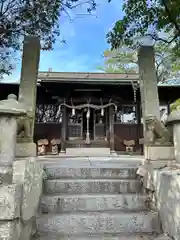
<path fill-rule="evenodd" d="M 61 125 L 61 152 L 66 152 L 66 133 L 67 133 L 67 109 L 64 106 L 62 111 L 62 125 Z"/>

